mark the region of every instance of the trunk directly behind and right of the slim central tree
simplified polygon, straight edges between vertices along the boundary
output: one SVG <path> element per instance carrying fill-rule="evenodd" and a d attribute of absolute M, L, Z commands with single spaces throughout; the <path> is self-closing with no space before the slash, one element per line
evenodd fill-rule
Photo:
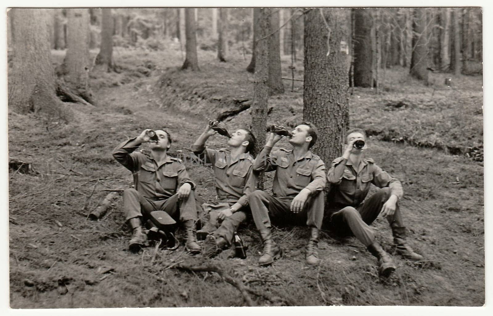
<path fill-rule="evenodd" d="M 279 9 L 271 8 L 271 29 L 269 34 L 269 87 L 270 94 L 284 93 L 279 46 Z"/>

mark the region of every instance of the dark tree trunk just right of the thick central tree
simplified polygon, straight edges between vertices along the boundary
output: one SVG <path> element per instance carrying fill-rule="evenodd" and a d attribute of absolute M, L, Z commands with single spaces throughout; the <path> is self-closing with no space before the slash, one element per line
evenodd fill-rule
<path fill-rule="evenodd" d="M 354 10 L 354 86 L 373 86 L 371 9 Z"/>

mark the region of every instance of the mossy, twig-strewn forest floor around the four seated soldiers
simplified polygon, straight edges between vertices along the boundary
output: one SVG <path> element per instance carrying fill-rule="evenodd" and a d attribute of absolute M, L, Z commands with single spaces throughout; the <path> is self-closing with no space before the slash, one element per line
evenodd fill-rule
<path fill-rule="evenodd" d="M 53 54 L 60 63 L 63 52 Z M 131 173 L 111 156 L 119 142 L 164 125 L 174 139 L 171 153 L 185 153 L 209 118 L 234 99 L 253 96 L 253 75 L 245 71 L 249 56 L 220 63 L 213 53 L 199 51 L 198 73 L 178 70 L 179 50 L 116 48 L 114 56 L 121 72 L 91 74 L 98 105 L 73 105 L 76 121 L 41 123 L 33 115 L 8 113 L 9 157 L 32 163 L 37 172 L 9 170 L 11 308 L 246 305 L 218 274 L 176 269 L 180 264 L 219 267 L 246 286 L 258 306 L 485 303 L 481 76 L 431 73 L 433 84 L 424 86 L 394 68 L 381 70 L 378 93 L 354 89 L 351 126 L 367 129 L 367 156 L 402 181 L 409 243 L 426 258 L 417 263 L 394 255 L 397 270 L 380 278 L 376 259 L 361 243 L 330 232 L 322 233 L 321 264 L 306 266 L 306 227 L 277 228 L 274 239 L 285 256 L 259 267 L 261 244 L 252 224 L 239 231 L 248 245 L 241 260 L 228 259 L 229 251 L 206 259 L 187 254 L 183 246 L 170 251 L 154 245 L 131 253 L 121 197 L 100 220 L 88 220 L 105 190 L 132 182 Z M 289 57 L 282 63 L 283 77 L 290 76 Z M 295 67 L 295 78 L 302 79 L 303 61 Z M 452 78 L 452 87 L 443 84 L 445 77 Z M 269 100 L 269 122 L 292 123 L 301 116 L 302 81 L 295 81 L 293 91 L 290 80 L 284 85 L 286 92 Z M 235 129 L 249 122 L 246 110 L 225 125 Z M 225 141 L 213 136 L 208 145 L 219 148 Z M 186 164 L 199 195 L 210 199 L 211 170 Z M 394 254 L 386 220 L 378 218 L 372 226 Z M 59 293 L 59 279 L 66 295 Z"/>

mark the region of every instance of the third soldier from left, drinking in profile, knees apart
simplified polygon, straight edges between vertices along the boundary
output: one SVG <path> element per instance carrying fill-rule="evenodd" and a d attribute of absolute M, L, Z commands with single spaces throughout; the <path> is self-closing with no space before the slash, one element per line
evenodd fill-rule
<path fill-rule="evenodd" d="M 310 122 L 298 125 L 289 143 L 292 149 L 281 148 L 270 153 L 281 139 L 270 133 L 268 140 L 255 159 L 253 170 L 276 171 L 272 186 L 273 195 L 256 190 L 250 194 L 249 203 L 253 220 L 264 244 L 258 263 L 269 265 L 282 256 L 281 248 L 272 240 L 271 219 L 290 225 L 306 224 L 311 236 L 306 251 L 306 262 L 318 264 L 318 233 L 322 225 L 325 186 L 325 165 L 310 148 L 317 141 L 317 129 Z"/>

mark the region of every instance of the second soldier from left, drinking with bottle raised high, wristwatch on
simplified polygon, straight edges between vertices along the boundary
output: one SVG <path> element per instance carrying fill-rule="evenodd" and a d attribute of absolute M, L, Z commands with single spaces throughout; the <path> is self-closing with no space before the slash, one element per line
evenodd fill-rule
<path fill-rule="evenodd" d="M 204 133 L 192 145 L 193 152 L 214 169 L 217 199 L 207 205 L 209 220 L 197 232 L 199 239 L 206 238 L 203 254 L 212 257 L 223 248 L 231 246 L 234 232 L 247 218 L 248 194 L 255 190 L 257 177 L 252 172 L 253 157 L 249 154 L 255 146 L 253 134 L 239 129 L 228 140 L 231 149 L 214 150 L 205 143 L 216 131 L 210 122 Z M 218 221 L 222 221 L 219 225 Z"/>

